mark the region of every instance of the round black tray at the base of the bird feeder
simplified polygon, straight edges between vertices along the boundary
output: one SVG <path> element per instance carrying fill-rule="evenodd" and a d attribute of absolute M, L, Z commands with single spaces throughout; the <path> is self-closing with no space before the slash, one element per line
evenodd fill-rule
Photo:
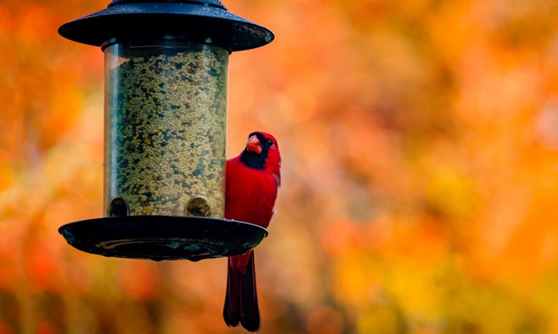
<path fill-rule="evenodd" d="M 58 231 L 84 252 L 154 261 L 241 255 L 255 248 L 268 233 L 248 222 L 169 215 L 81 220 Z"/>

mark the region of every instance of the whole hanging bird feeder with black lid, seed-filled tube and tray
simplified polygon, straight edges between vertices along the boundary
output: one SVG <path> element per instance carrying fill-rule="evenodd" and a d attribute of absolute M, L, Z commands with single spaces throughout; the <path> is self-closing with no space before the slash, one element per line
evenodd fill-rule
<path fill-rule="evenodd" d="M 105 53 L 105 216 L 63 225 L 66 241 L 192 261 L 262 241 L 266 229 L 224 219 L 227 66 L 273 33 L 219 0 L 114 0 L 59 33 Z"/>

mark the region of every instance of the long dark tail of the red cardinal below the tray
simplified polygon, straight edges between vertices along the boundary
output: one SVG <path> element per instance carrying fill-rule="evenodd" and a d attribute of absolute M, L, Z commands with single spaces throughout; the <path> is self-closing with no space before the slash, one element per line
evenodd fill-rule
<path fill-rule="evenodd" d="M 246 271 L 243 271 L 243 268 L 239 268 L 237 265 L 241 262 L 243 257 L 248 258 Z M 229 257 L 227 294 L 225 295 L 223 319 L 225 319 L 225 324 L 229 327 L 239 326 L 240 323 L 246 328 L 246 331 L 259 331 L 260 320 L 259 306 L 257 303 L 254 252 L 250 252 L 250 255 L 246 254 L 239 255 L 238 257 Z"/>

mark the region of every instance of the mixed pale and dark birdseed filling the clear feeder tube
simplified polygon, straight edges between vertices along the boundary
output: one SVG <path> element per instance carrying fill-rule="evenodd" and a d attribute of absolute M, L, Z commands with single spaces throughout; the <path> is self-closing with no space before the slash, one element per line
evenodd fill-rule
<path fill-rule="evenodd" d="M 158 50 L 109 72 L 107 212 L 223 218 L 228 52 Z"/>

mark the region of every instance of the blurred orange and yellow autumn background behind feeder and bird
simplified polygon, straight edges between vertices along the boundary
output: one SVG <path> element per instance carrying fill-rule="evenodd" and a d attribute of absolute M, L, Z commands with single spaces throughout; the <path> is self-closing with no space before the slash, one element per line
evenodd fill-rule
<path fill-rule="evenodd" d="M 244 333 L 226 259 L 89 255 L 108 0 L 0 1 L 0 333 Z M 558 333 L 558 3 L 225 0 L 276 40 L 229 59 L 228 156 L 276 135 L 262 333 Z"/>

